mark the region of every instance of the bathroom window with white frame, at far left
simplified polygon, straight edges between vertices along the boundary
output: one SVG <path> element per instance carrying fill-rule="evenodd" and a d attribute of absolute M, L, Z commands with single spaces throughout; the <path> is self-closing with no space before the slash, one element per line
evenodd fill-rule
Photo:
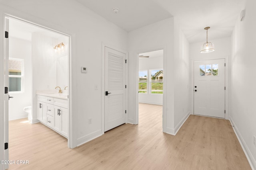
<path fill-rule="evenodd" d="M 24 59 L 9 58 L 9 92 L 23 92 Z"/>

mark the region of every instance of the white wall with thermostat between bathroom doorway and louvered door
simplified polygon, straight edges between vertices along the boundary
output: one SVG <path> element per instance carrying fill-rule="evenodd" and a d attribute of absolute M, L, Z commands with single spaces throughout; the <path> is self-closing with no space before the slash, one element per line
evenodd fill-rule
<path fill-rule="evenodd" d="M 72 35 L 72 80 L 69 87 L 72 92 L 70 109 L 74 133 L 70 134 L 73 139 L 71 145 L 75 147 L 101 135 L 101 99 L 104 95 L 101 93 L 102 42 L 127 51 L 128 33 L 75 0 L 15 0 L 1 3 L 11 8 L 1 5 L 0 18 L 4 18 L 4 12 L 8 12 Z M 86 74 L 81 73 L 81 66 L 88 68 Z M 94 90 L 95 85 L 98 85 L 98 90 Z M 90 125 L 88 118 L 92 118 Z"/>

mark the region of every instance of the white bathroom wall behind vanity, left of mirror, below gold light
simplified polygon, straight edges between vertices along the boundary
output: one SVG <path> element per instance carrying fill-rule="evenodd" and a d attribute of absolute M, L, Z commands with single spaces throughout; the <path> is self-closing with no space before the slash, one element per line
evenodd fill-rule
<path fill-rule="evenodd" d="M 57 85 L 54 39 L 42 33 L 32 33 L 32 122 L 37 122 L 36 90 L 50 90 Z"/>

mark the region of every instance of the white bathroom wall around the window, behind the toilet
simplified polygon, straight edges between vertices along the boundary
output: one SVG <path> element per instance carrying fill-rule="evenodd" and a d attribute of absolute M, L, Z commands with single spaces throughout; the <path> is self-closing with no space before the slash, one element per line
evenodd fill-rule
<path fill-rule="evenodd" d="M 9 57 L 24 59 L 24 92 L 9 92 L 14 97 L 9 100 L 9 120 L 14 120 L 28 117 L 23 108 L 32 106 L 31 41 L 10 37 Z"/>

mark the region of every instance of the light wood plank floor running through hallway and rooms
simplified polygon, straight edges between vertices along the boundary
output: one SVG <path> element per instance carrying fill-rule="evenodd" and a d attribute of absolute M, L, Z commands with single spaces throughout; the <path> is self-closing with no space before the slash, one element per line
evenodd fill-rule
<path fill-rule="evenodd" d="M 75 149 L 41 123 L 10 121 L 10 160 L 29 164 L 9 169 L 251 169 L 228 120 L 190 115 L 172 136 L 162 133 L 162 106 L 139 108 L 139 125 L 121 125 Z"/>

